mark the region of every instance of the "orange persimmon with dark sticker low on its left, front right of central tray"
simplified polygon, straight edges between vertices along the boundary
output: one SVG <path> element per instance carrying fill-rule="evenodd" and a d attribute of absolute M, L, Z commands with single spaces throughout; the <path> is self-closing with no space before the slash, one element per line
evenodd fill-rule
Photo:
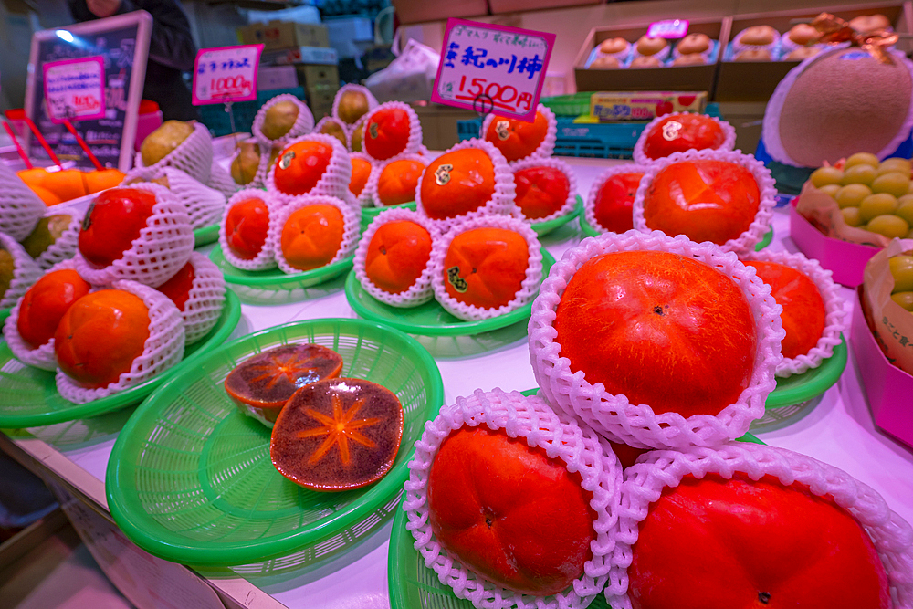
<path fill-rule="evenodd" d="M 444 287 L 451 298 L 480 309 L 508 304 L 522 288 L 530 248 L 505 228 L 474 228 L 455 236 L 444 257 Z"/>

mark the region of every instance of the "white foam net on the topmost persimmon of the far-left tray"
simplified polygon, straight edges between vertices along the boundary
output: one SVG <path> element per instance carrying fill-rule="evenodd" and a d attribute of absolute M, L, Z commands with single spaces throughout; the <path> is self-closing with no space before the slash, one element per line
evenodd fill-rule
<path fill-rule="evenodd" d="M 131 184 L 130 188 L 155 195 L 152 215 L 133 239 L 130 249 L 108 267 L 92 268 L 76 254 L 76 270 L 94 286 L 107 286 L 116 279 L 131 279 L 147 286 L 162 285 L 181 269 L 194 251 L 194 229 L 184 204 L 159 184 Z M 87 212 L 88 213 L 88 212 Z"/>

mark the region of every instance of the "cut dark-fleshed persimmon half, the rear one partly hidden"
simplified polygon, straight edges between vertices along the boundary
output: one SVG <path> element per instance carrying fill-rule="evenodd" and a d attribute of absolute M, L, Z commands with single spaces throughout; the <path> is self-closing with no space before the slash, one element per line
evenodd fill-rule
<path fill-rule="evenodd" d="M 335 378 L 342 357 L 316 344 L 288 344 L 251 355 L 226 376 L 226 393 L 242 409 L 275 421 L 300 387 Z"/>

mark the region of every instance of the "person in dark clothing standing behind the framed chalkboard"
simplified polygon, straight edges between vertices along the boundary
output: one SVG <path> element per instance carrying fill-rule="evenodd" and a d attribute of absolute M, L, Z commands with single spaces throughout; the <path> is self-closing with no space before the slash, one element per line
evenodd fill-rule
<path fill-rule="evenodd" d="M 131 11 L 152 15 L 149 61 L 142 97 L 159 104 L 165 121 L 199 120 L 182 72 L 194 69 L 196 45 L 190 23 L 177 0 L 68 0 L 77 21 L 92 21 Z"/>

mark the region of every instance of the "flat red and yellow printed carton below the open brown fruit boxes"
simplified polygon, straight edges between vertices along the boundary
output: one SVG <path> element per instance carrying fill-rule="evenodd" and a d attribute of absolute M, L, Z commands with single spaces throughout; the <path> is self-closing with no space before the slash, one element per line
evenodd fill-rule
<path fill-rule="evenodd" d="M 669 112 L 703 112 L 707 91 L 593 93 L 590 115 L 600 121 L 652 121 Z"/>

